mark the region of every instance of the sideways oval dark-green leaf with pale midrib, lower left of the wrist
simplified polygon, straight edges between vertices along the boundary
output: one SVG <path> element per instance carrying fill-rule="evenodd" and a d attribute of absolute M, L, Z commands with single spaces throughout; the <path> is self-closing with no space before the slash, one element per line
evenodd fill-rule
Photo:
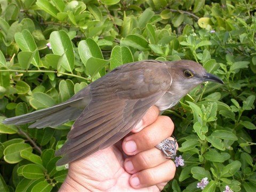
<path fill-rule="evenodd" d="M 44 171 L 42 170 L 42 167 L 36 164 L 27 164 L 23 166 L 21 173 L 23 177 L 27 179 L 44 178 Z"/>

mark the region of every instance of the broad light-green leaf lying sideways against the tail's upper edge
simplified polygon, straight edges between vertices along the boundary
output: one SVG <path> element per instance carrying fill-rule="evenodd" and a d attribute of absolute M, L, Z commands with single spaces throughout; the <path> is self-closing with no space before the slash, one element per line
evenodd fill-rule
<path fill-rule="evenodd" d="M 29 100 L 30 105 L 35 109 L 42 109 L 56 105 L 55 101 L 47 94 L 36 92 Z"/>

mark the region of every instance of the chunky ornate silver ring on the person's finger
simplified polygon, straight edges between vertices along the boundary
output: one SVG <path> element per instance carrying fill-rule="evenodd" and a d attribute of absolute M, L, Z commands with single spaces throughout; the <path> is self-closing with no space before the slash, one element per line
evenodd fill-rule
<path fill-rule="evenodd" d="M 172 139 L 165 139 L 158 143 L 157 146 L 155 146 L 157 149 L 160 149 L 165 154 L 166 158 L 174 159 L 176 157 L 176 151 L 177 151 L 177 140 L 175 138 Z"/>

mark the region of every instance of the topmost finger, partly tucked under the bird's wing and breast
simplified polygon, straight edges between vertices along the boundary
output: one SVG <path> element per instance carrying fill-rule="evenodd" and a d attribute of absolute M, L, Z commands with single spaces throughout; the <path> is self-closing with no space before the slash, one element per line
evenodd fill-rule
<path fill-rule="evenodd" d="M 141 119 L 141 121 L 132 129 L 133 133 L 141 131 L 146 126 L 154 123 L 159 115 L 159 110 L 156 106 L 152 106 L 148 109 L 147 113 Z"/>

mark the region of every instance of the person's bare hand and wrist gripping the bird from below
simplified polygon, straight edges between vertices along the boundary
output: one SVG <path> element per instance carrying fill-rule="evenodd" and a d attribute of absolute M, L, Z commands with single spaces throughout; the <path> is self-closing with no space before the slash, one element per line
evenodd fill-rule
<path fill-rule="evenodd" d="M 175 164 L 154 146 L 174 129 L 153 106 L 123 141 L 69 164 L 59 191 L 160 191 L 174 177 Z M 125 153 L 125 154 L 124 154 Z"/>

